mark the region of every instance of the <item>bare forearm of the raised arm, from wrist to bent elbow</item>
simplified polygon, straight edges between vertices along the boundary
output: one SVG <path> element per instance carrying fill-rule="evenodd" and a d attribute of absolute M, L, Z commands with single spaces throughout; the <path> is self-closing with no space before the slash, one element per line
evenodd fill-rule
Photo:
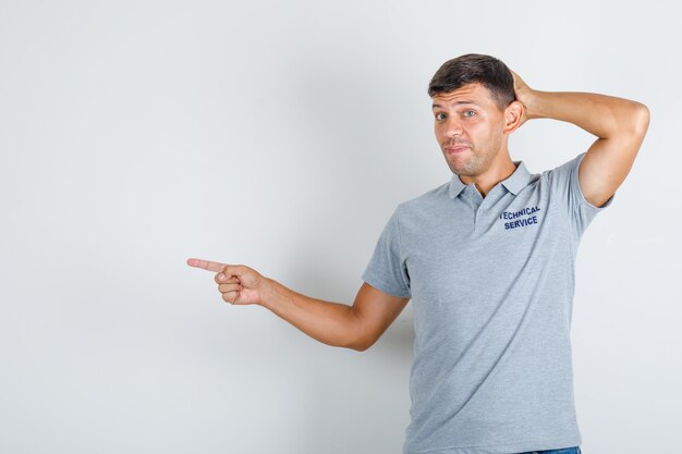
<path fill-rule="evenodd" d="M 648 110 L 640 102 L 590 93 L 538 91 L 524 102 L 528 119 L 573 123 L 599 138 L 637 133 Z"/>

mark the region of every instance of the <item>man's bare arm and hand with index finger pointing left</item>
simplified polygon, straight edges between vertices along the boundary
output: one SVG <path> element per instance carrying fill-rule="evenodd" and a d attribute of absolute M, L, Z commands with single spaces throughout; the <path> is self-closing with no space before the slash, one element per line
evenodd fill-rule
<path fill-rule="evenodd" d="M 363 283 L 353 306 L 348 306 L 294 292 L 243 265 L 195 258 L 187 265 L 216 272 L 223 300 L 260 305 L 319 342 L 358 352 L 369 348 L 409 302 Z"/>

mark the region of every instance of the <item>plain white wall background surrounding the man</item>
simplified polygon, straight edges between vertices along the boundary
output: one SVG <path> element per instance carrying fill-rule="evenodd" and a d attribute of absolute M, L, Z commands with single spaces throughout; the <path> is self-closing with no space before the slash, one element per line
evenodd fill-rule
<path fill-rule="evenodd" d="M 586 454 L 672 452 L 682 420 L 674 2 L 0 1 L 0 452 L 399 453 L 412 305 L 364 353 L 220 299 L 188 257 L 352 304 L 400 201 L 450 179 L 434 72 L 647 105 L 577 257 Z M 533 173 L 594 137 L 547 120 Z"/>

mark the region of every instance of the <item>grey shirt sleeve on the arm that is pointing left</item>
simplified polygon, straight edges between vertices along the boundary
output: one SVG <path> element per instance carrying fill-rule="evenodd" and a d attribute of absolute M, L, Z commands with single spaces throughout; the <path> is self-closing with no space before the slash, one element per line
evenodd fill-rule
<path fill-rule="evenodd" d="M 362 279 L 381 292 L 407 298 L 410 274 L 401 249 L 399 208 L 383 228 Z"/>

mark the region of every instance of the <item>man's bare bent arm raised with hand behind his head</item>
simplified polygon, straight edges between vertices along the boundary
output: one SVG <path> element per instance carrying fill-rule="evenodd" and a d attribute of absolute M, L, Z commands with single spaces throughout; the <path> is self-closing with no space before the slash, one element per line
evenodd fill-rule
<path fill-rule="evenodd" d="M 643 103 L 590 93 L 557 93 L 531 89 L 513 73 L 516 99 L 523 103 L 522 122 L 555 119 L 582 127 L 598 138 L 580 167 L 585 199 L 601 207 L 623 183 L 649 125 Z"/>

